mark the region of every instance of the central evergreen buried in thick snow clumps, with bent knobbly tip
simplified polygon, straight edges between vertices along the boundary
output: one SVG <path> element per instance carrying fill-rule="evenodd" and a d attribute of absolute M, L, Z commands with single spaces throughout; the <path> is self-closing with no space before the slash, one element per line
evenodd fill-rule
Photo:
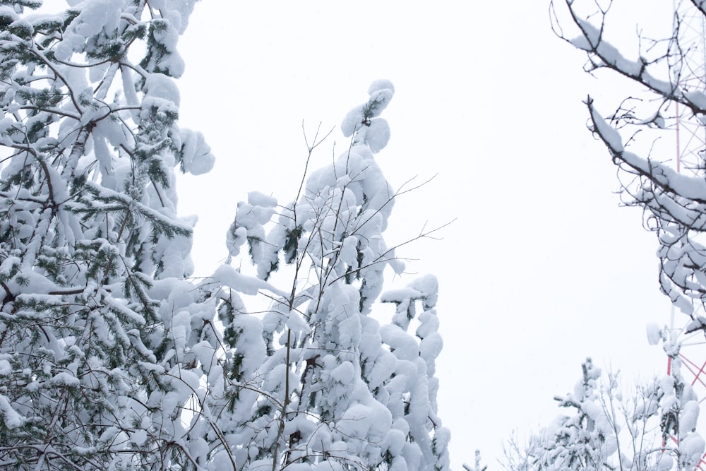
<path fill-rule="evenodd" d="M 343 121 L 349 148 L 312 172 L 296 201 L 251 192 L 238 205 L 227 237 L 232 266 L 203 286 L 220 301 L 224 335 L 203 347 L 218 360 L 201 359 L 209 413 L 196 427 L 210 427 L 217 466 L 448 469 L 449 434 L 436 415 L 436 278 L 383 294 L 397 305 L 389 325 L 370 316 L 385 268 L 404 268 L 383 239 L 395 191 L 374 156 L 388 141 L 378 116 L 393 93 L 388 81 L 371 85 Z M 244 252 L 257 277 L 234 268 Z M 258 292 L 271 299 L 263 315 L 241 296 Z"/>

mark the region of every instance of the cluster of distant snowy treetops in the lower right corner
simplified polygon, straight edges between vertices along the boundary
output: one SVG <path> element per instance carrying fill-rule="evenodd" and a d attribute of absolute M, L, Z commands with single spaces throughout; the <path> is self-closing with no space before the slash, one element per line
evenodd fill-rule
<path fill-rule="evenodd" d="M 678 362 L 678 347 L 666 337 L 663 340 L 665 350 Z M 618 374 L 602 375 L 587 359 L 573 391 L 555 398 L 567 412 L 525 443 L 511 440 L 505 447 L 505 468 L 694 470 L 704 448 L 695 432 L 698 401 L 675 366 L 671 375 L 640 383 L 626 395 Z"/>

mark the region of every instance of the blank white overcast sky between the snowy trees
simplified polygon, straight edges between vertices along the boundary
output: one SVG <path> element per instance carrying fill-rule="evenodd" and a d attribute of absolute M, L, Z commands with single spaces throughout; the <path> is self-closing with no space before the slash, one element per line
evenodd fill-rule
<path fill-rule="evenodd" d="M 616 28 L 634 32 L 646 12 L 669 28 L 657 4 L 671 2 L 638 3 L 641 16 L 616 16 Z M 585 126 L 587 94 L 608 110 L 620 85 L 582 72 L 585 56 L 551 32 L 548 7 L 208 0 L 180 42 L 181 125 L 203 131 L 217 157 L 210 174 L 179 182 L 181 213 L 200 215 L 202 275 L 224 258 L 248 191 L 294 197 L 302 121 L 310 136 L 319 122 L 336 128 L 313 156 L 325 165 L 369 83 L 395 83 L 378 162 L 395 187 L 438 176 L 397 200 L 388 243 L 455 219 L 443 239 L 398 254 L 441 283 L 440 415 L 457 470 L 474 448 L 497 468 L 514 429 L 548 424 L 553 396 L 573 388 L 585 357 L 628 381 L 666 365 L 645 335 L 646 323 L 669 323 L 657 242 L 640 210 L 618 207 L 616 169 Z"/>

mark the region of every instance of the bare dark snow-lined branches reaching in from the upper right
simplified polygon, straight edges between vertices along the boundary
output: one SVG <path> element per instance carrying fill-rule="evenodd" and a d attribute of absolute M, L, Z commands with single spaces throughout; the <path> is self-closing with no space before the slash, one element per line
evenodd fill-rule
<path fill-rule="evenodd" d="M 611 71 L 627 79 L 617 83 L 635 85 L 630 96 L 607 115 L 587 97 L 590 129 L 605 143 L 621 170 L 623 202 L 642 208 L 645 227 L 657 234 L 662 292 L 691 317 L 687 331 L 706 330 L 706 317 L 698 314 L 706 302 L 705 155 L 698 151 L 694 156 L 698 162 L 690 162 L 688 174 L 678 172 L 674 161 L 676 117 L 681 117 L 682 126 L 688 121 L 701 127 L 706 123 L 702 73 L 694 68 L 699 67 L 695 65 L 698 61 L 703 66 L 703 38 L 682 34 L 695 25 L 702 28 L 706 2 L 675 2 L 673 18 L 662 20 L 664 25 L 673 25 L 664 37 L 650 37 L 642 29 L 645 25 L 640 25 L 635 50 L 609 40 L 611 35 L 616 40 L 620 36 L 609 28 L 611 1 L 561 3 L 566 3 L 566 8 L 551 3 L 554 31 L 587 53 L 585 70 L 596 76 Z M 701 74 L 698 81 L 686 80 L 694 73 Z M 694 131 L 695 135 L 703 132 Z"/>

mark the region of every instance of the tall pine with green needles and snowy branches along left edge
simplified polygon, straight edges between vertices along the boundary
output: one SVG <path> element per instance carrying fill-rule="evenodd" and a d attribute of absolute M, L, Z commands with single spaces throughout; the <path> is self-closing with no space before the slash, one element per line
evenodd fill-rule
<path fill-rule="evenodd" d="M 177 126 L 193 1 L 21 16 L 39 5 L 0 5 L 0 463 L 186 467 L 179 364 L 194 334 L 168 306 L 183 301 L 192 222 L 176 215 L 174 167 L 213 162 Z"/>

